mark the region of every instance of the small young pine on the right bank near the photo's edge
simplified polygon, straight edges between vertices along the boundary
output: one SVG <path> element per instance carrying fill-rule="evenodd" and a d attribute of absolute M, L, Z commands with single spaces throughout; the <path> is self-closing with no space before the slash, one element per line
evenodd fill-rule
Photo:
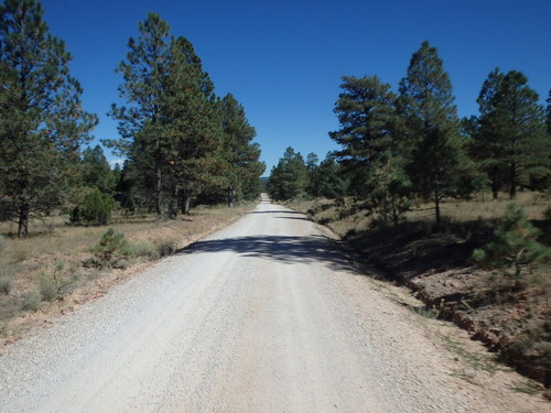
<path fill-rule="evenodd" d="M 527 271 L 551 260 L 551 249 L 538 242 L 541 230 L 526 217 L 521 207 L 507 204 L 504 218 L 494 232 L 495 240 L 473 252 L 473 258 L 483 267 L 500 269 L 519 286 Z"/>

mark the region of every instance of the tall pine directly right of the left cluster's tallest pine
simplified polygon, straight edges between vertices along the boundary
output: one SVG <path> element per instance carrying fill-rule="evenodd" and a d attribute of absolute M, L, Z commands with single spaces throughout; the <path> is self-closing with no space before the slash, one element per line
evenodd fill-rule
<path fill-rule="evenodd" d="M 168 165 L 171 219 L 176 218 L 180 202 L 183 213 L 188 214 L 194 192 L 223 184 L 224 137 L 213 90 L 192 43 L 184 37 L 173 39 L 160 104 L 160 124 L 166 133 L 160 153 Z"/>

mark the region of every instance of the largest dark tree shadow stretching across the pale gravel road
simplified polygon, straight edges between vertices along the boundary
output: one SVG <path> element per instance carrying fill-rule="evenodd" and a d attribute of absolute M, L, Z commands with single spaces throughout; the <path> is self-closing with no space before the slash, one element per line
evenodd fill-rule
<path fill-rule="evenodd" d="M 334 270 L 352 270 L 338 246 L 323 236 L 250 236 L 199 241 L 179 250 L 179 254 L 233 251 L 285 263 L 324 262 Z"/>

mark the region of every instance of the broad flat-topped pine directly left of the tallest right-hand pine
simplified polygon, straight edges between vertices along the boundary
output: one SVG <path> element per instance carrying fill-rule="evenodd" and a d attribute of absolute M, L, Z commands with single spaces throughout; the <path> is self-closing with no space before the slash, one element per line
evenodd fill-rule
<path fill-rule="evenodd" d="M 396 96 L 377 76 L 344 76 L 341 88 L 334 109 L 341 129 L 329 137 L 343 146 L 336 157 L 352 176 L 356 195 L 366 196 L 371 165 L 396 149 Z"/>

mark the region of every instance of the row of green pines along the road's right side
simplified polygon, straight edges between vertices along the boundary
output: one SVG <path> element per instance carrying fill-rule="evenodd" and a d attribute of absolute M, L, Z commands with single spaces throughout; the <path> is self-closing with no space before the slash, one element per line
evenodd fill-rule
<path fill-rule="evenodd" d="M 412 55 L 398 94 L 377 76 L 345 76 L 341 88 L 341 129 L 329 137 L 342 149 L 314 167 L 289 148 L 271 171 L 273 198 L 346 194 L 395 222 L 413 200 L 431 202 L 440 226 L 445 197 L 551 189 L 551 90 L 544 108 L 520 72 L 490 72 L 479 115 L 464 119 L 429 42 Z"/>

